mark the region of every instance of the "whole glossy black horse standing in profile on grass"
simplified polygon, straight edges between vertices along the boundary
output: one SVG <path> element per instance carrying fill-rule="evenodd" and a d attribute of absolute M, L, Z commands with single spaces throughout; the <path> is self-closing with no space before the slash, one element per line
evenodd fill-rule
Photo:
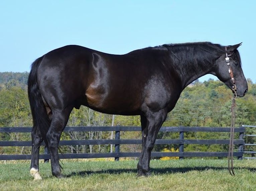
<path fill-rule="evenodd" d="M 142 151 L 138 175 L 150 175 L 156 135 L 182 90 L 213 74 L 237 96 L 247 92 L 237 48 L 209 42 L 167 44 L 112 55 L 70 45 L 36 59 L 28 78 L 33 116 L 30 173 L 38 171 L 39 147 L 48 146 L 52 174 L 62 177 L 58 143 L 72 109 L 81 105 L 118 115 L 140 115 Z"/>

